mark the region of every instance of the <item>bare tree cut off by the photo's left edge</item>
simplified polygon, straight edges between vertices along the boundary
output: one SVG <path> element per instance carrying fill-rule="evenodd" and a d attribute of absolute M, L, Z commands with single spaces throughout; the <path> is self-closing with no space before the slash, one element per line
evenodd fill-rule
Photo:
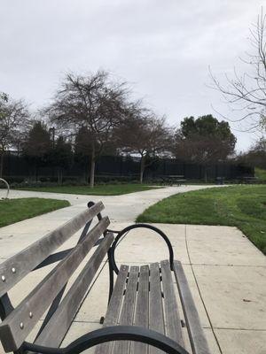
<path fill-rule="evenodd" d="M 4 153 L 12 146 L 18 146 L 25 123 L 29 117 L 27 105 L 2 95 L 0 98 L 0 177 L 3 176 Z"/>

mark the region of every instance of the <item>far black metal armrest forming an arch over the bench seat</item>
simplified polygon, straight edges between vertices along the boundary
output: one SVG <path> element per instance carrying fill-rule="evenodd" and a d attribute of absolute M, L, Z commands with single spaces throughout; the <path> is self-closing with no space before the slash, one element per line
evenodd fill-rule
<path fill-rule="evenodd" d="M 173 264 L 174 264 L 174 251 L 173 251 L 173 247 L 172 247 L 172 244 L 171 242 L 169 241 L 168 239 L 168 236 L 165 235 L 161 230 L 160 228 L 158 227 L 153 227 L 152 225 L 149 225 L 149 224 L 133 224 L 133 225 L 130 225 L 129 227 L 125 227 L 124 229 L 122 229 L 121 231 L 119 231 L 117 234 L 117 236 L 115 237 L 115 240 L 113 242 L 113 245 L 111 247 L 111 250 L 110 250 L 110 261 L 111 261 L 111 265 L 113 267 L 113 270 L 115 273 L 119 273 L 119 270 L 118 270 L 118 267 L 116 266 L 116 263 L 115 263 L 115 259 L 114 259 L 114 251 L 115 251 L 115 248 L 117 246 L 117 242 L 119 242 L 119 240 L 121 239 L 121 237 L 125 234 L 127 234 L 130 230 L 132 230 L 133 228 L 139 228 L 139 227 L 145 227 L 145 228 L 149 228 L 150 230 L 153 230 L 155 231 L 157 234 L 159 234 L 163 239 L 164 241 L 167 243 L 168 245 L 168 251 L 169 251 L 169 263 L 170 263 L 170 267 L 171 269 L 173 270 Z"/>

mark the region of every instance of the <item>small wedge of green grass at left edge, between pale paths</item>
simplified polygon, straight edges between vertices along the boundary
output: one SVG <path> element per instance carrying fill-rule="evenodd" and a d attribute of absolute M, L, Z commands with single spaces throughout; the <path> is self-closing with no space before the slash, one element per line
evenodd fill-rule
<path fill-rule="evenodd" d="M 69 205 L 66 200 L 57 199 L 20 198 L 0 200 L 0 227 L 33 218 L 45 212 L 65 208 Z"/>

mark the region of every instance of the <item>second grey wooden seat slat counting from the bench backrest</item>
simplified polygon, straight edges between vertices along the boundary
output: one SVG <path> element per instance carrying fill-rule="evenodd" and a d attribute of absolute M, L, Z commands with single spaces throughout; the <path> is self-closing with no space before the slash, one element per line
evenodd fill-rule
<path fill-rule="evenodd" d="M 126 288 L 126 295 L 124 303 L 122 304 L 120 325 L 130 326 L 133 325 L 135 300 L 137 295 L 137 281 L 138 281 L 138 266 L 130 266 L 129 281 Z M 118 341 L 113 343 L 113 354 L 128 354 L 129 341 Z"/>

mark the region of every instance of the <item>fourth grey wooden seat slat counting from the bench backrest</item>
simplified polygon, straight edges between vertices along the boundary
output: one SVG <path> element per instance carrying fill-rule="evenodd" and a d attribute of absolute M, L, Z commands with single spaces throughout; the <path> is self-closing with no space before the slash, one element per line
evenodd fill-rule
<path fill-rule="evenodd" d="M 162 309 L 162 298 L 160 289 L 160 267 L 158 263 L 153 263 L 150 267 L 150 329 L 165 334 L 164 319 Z M 162 353 L 152 346 L 149 348 L 150 354 Z M 136 353 L 137 354 L 137 353 Z"/>

